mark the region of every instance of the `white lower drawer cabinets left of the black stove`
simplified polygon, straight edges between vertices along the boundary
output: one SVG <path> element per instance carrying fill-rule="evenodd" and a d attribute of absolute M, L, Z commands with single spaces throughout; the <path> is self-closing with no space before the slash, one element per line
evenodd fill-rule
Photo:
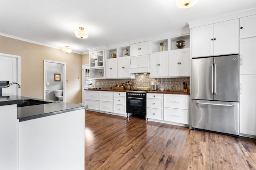
<path fill-rule="evenodd" d="M 126 92 L 86 90 L 88 110 L 126 116 Z"/>

